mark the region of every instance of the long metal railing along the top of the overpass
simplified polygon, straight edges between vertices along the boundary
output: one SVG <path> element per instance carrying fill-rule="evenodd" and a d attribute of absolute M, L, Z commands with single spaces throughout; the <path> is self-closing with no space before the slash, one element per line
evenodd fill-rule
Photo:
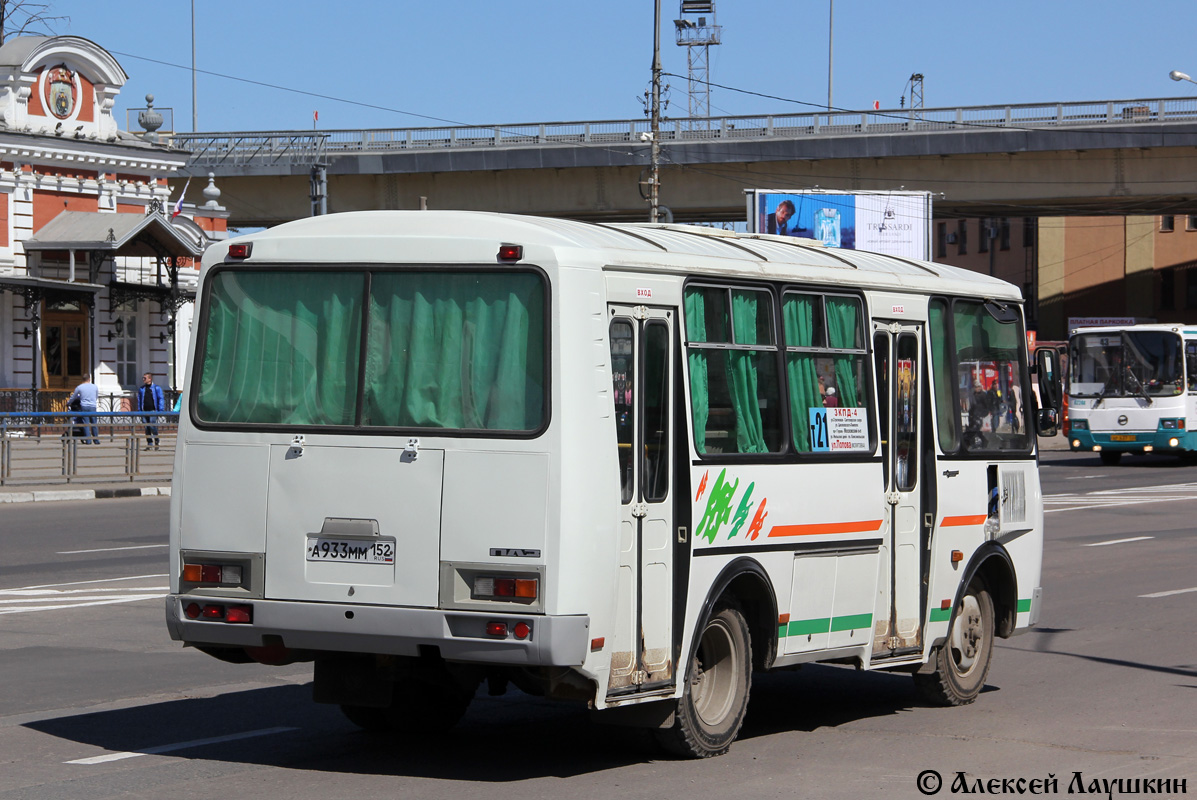
<path fill-rule="evenodd" d="M 661 123 L 666 144 L 760 138 L 928 133 L 986 128 L 1055 128 L 1140 122 L 1197 122 L 1197 97 L 1023 103 L 783 115 L 682 117 Z M 643 145 L 648 120 L 531 122 L 432 128 L 176 133 L 190 166 L 310 166 L 340 156 L 427 150 Z"/>

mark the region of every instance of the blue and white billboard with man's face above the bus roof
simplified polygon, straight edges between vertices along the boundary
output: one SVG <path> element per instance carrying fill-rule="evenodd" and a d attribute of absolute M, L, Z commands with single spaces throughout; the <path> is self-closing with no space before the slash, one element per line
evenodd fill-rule
<path fill-rule="evenodd" d="M 751 232 L 801 236 L 824 247 L 906 259 L 931 257 L 929 192 L 752 189 L 747 194 Z"/>

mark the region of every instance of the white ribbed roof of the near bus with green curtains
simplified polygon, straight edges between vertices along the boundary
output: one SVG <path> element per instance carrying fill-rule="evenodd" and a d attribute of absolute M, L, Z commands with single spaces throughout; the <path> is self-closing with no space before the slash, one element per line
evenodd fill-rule
<path fill-rule="evenodd" d="M 358 211 L 309 217 L 233 241 L 254 243 L 247 265 L 493 262 L 499 244 L 519 244 L 530 263 L 549 250 L 559 263 L 578 267 L 1022 299 L 1013 284 L 943 263 L 694 225 L 583 223 L 480 211 Z M 224 261 L 226 251 L 227 243 L 209 248 L 205 266 Z"/>

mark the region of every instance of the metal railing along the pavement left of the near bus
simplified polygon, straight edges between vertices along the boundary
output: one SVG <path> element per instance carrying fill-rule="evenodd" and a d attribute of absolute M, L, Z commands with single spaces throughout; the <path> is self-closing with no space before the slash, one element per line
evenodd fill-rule
<path fill-rule="evenodd" d="M 170 480 L 177 431 L 177 412 L 0 413 L 0 486 Z"/>

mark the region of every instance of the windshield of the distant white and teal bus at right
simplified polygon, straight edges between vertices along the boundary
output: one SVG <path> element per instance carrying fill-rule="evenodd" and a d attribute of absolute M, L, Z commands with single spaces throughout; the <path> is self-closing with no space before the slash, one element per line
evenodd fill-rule
<path fill-rule="evenodd" d="M 1069 392 L 1077 396 L 1171 396 L 1184 390 L 1180 337 L 1122 331 L 1073 337 Z"/>

